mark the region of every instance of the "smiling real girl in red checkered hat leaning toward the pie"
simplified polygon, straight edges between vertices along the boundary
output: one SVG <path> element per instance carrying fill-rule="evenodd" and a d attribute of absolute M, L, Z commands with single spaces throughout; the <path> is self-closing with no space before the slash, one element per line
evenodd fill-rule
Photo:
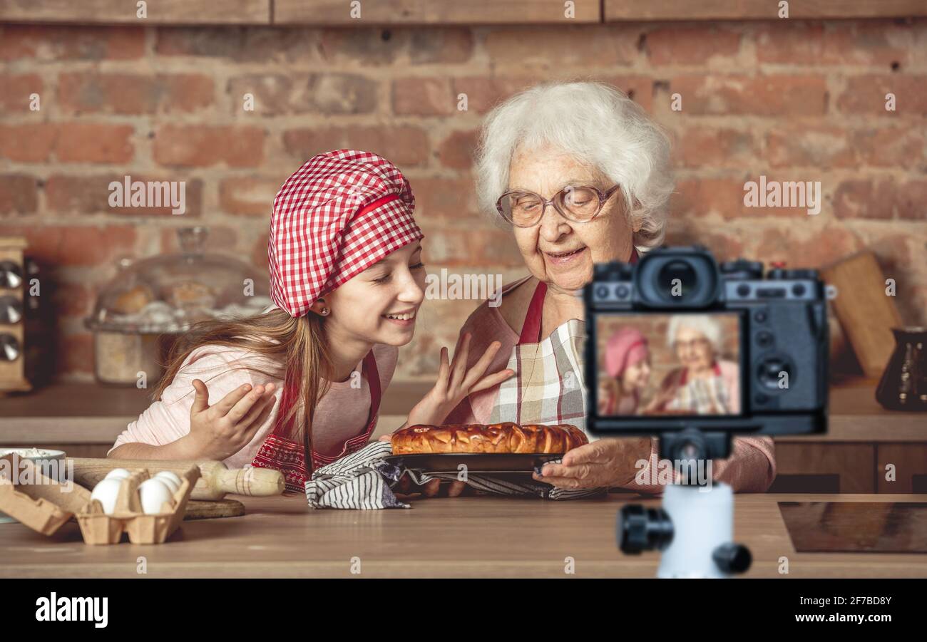
<path fill-rule="evenodd" d="M 155 402 L 108 457 L 251 464 L 303 492 L 312 470 L 363 447 L 425 298 L 414 207 L 409 182 L 383 157 L 342 149 L 308 160 L 273 199 L 275 306 L 179 337 Z M 441 423 L 514 374 L 485 375 L 499 342 L 467 369 L 468 346 L 464 336 L 451 362 L 441 348 L 438 382 L 409 423 Z"/>

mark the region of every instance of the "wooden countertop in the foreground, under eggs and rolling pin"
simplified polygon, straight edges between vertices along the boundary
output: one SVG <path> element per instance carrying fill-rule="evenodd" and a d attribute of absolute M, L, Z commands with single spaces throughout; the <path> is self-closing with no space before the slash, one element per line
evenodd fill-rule
<path fill-rule="evenodd" d="M 231 497 L 231 496 L 230 496 Z M 508 497 L 413 500 L 410 510 L 310 510 L 305 497 L 238 497 L 244 517 L 184 522 L 160 546 L 83 544 L 76 522 L 45 537 L 0 524 L 0 577 L 654 577 L 659 555 L 616 548 L 616 514 L 635 495 L 578 501 Z M 796 553 L 777 501 L 917 502 L 919 495 L 736 496 L 735 541 L 754 557 L 751 577 L 927 577 L 927 555 Z M 656 507 L 659 498 L 642 503 Z"/>

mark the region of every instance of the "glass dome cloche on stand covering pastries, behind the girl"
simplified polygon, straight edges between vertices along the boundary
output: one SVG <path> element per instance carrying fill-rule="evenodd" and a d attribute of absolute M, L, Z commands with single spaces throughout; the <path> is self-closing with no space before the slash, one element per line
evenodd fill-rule
<path fill-rule="evenodd" d="M 177 234 L 179 253 L 120 258 L 118 273 L 97 296 L 85 323 L 95 335 L 95 372 L 102 383 L 134 384 L 142 371 L 148 382 L 156 381 L 159 334 L 184 333 L 197 321 L 254 316 L 271 305 L 266 269 L 205 253 L 205 227 Z"/>

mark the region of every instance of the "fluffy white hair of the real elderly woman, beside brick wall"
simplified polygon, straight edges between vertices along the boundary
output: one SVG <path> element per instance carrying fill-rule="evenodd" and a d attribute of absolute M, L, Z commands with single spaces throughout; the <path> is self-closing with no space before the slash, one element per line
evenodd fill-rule
<path fill-rule="evenodd" d="M 670 139 L 628 95 L 604 82 L 545 82 L 494 107 L 476 150 L 479 207 L 502 220 L 496 201 L 508 190 L 509 164 L 519 148 L 554 145 L 621 185 L 634 245 L 663 242 L 674 188 Z M 504 222 L 504 221 L 503 221 Z"/>

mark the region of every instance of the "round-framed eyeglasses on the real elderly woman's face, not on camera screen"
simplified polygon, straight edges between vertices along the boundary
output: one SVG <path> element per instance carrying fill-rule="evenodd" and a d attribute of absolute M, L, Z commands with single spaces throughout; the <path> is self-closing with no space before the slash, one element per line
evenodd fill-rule
<path fill-rule="evenodd" d="M 550 200 L 534 192 L 506 192 L 496 201 L 496 209 L 502 218 L 515 227 L 531 227 L 544 215 L 547 206 L 552 205 L 565 219 L 586 223 L 602 211 L 605 201 L 615 194 L 619 185 L 607 192 L 600 192 L 588 185 L 567 185 Z"/>

